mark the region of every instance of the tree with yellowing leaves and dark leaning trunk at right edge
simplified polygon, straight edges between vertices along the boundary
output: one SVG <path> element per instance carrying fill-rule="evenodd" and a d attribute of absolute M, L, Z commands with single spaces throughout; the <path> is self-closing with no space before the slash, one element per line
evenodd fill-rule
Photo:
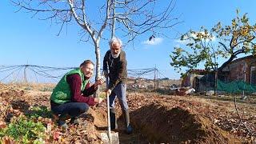
<path fill-rule="evenodd" d="M 237 10 L 237 17 L 232 20 L 230 26 L 222 26 L 221 22 L 218 22 L 212 30 L 218 38 L 218 47 L 222 48 L 222 57 L 228 58 L 218 68 L 219 71 L 237 58 L 238 54 L 255 54 L 256 23 L 250 25 L 247 14 L 239 17 Z"/>

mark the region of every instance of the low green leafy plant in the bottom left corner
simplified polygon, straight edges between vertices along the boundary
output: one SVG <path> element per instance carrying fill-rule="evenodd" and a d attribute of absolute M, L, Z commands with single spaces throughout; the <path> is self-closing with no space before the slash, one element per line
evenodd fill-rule
<path fill-rule="evenodd" d="M 9 136 L 14 138 L 17 142 L 22 143 L 42 143 L 45 135 L 46 127 L 42 122 L 34 122 L 26 119 L 26 117 L 19 117 L 10 122 L 6 128 L 0 130 L 0 138 Z"/>

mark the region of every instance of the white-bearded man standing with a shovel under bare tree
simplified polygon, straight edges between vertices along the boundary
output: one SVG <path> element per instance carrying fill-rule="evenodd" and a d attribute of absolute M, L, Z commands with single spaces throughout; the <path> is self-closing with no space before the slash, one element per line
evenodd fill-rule
<path fill-rule="evenodd" d="M 106 52 L 103 60 L 103 70 L 106 78 L 110 78 L 106 89 L 106 94 L 110 98 L 110 126 L 111 129 L 118 128 L 114 109 L 114 100 L 118 97 L 122 114 L 125 116 L 126 133 L 130 134 L 132 127 L 130 126 L 129 107 L 126 100 L 126 53 L 122 50 L 122 41 L 119 38 L 112 38 L 109 45 L 110 50 Z M 110 73 L 108 73 L 108 70 Z"/>

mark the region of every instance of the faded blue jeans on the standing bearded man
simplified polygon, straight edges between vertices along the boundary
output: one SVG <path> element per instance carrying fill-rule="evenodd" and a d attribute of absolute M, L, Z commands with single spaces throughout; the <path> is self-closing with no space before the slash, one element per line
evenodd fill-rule
<path fill-rule="evenodd" d="M 128 110 L 129 107 L 126 100 L 126 84 L 120 82 L 114 87 L 114 90 L 112 90 L 110 94 L 110 109 L 114 109 L 114 100 L 116 97 L 118 97 L 122 110 Z"/>

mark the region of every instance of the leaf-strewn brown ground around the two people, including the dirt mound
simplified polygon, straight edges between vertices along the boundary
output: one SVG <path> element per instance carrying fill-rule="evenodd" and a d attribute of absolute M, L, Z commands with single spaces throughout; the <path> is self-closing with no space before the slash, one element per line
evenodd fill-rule
<path fill-rule="evenodd" d="M 62 130 L 50 115 L 53 87 L 0 84 L 0 143 L 102 143 L 106 102 L 91 107 L 78 126 Z M 127 98 L 134 133 L 124 133 L 116 105 L 120 143 L 255 142 L 254 103 L 237 102 L 236 109 L 233 101 L 196 96 L 128 92 Z"/>

